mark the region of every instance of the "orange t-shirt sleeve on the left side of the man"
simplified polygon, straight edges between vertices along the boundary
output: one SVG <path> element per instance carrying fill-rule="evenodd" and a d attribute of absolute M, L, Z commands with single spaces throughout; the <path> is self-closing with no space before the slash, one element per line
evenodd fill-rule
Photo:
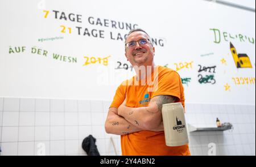
<path fill-rule="evenodd" d="M 126 97 L 125 86 L 121 84 L 115 91 L 115 96 L 109 108 L 112 108 L 112 107 L 118 108 L 123 103 L 123 100 L 125 100 L 125 97 Z"/>

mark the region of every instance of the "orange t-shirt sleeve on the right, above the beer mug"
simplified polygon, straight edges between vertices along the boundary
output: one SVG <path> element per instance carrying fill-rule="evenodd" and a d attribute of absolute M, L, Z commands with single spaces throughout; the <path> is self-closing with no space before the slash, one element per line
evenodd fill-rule
<path fill-rule="evenodd" d="M 183 91 L 180 75 L 176 71 L 168 71 L 159 74 L 158 87 L 152 92 L 152 98 L 158 95 L 171 95 L 179 98 L 179 101 L 183 101 Z"/>

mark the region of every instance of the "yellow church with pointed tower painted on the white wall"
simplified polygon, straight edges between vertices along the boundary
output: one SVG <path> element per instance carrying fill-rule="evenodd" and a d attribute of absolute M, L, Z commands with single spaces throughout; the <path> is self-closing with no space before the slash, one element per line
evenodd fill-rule
<path fill-rule="evenodd" d="M 236 63 L 237 68 L 252 68 L 250 58 L 247 54 L 240 53 L 237 54 L 236 48 L 234 48 L 233 44 L 230 42 L 230 50 L 234 58 L 234 62 Z"/>

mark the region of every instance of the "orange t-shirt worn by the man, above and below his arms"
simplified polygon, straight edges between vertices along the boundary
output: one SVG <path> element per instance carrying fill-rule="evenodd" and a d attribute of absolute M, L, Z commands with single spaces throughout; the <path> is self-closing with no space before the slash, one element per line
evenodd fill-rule
<path fill-rule="evenodd" d="M 170 68 L 157 66 L 158 75 L 151 75 L 153 80 L 158 77 L 158 84 L 154 90 L 148 91 L 152 84 L 134 85 L 136 76 L 119 85 L 110 107 L 118 108 L 126 99 L 126 105 L 133 108 L 147 106 L 154 96 L 171 95 L 177 97 L 176 102 L 181 102 L 184 107 L 184 88 L 179 74 Z M 151 81 L 152 81 L 151 80 Z M 164 131 L 139 131 L 121 136 L 122 155 L 190 155 L 188 145 L 168 147 L 164 138 Z"/>

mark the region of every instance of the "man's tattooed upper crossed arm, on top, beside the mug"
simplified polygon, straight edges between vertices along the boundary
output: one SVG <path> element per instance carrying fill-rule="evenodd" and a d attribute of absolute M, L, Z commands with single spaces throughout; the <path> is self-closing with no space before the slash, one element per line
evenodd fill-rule
<path fill-rule="evenodd" d="M 118 108 L 118 115 L 125 118 L 135 127 L 143 130 L 158 128 L 163 123 L 162 105 L 175 102 L 176 97 L 170 95 L 155 96 L 146 107 L 130 108 L 125 105 L 125 101 Z"/>

